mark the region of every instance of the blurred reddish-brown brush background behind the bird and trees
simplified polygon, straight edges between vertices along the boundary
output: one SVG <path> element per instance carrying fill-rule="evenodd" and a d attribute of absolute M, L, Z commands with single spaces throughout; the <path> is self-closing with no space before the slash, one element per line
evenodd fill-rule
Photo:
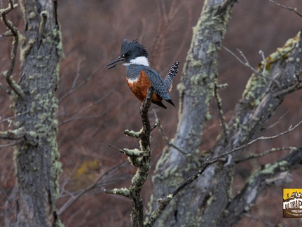
<path fill-rule="evenodd" d="M 280 4 L 297 7 L 302 12 L 301 0 L 279 1 Z M 4 2 L 5 4 L 5 2 Z M 203 7 L 203 1 L 135 1 L 135 0 L 90 0 L 59 1 L 58 14 L 62 26 L 64 56 L 60 69 L 60 86 L 57 92 L 60 101 L 58 118 L 59 151 L 64 172 L 60 184 L 62 195 L 78 191 L 92 184 L 99 173 L 104 174 L 112 166 L 126 160 L 124 156 L 110 149 L 108 144 L 118 148 L 136 148 L 136 139 L 125 137 L 123 131 L 139 130 L 140 102 L 132 95 L 125 82 L 125 67 L 109 71 L 104 65 L 118 57 L 123 39 L 139 39 L 149 51 L 151 67 L 162 76 L 167 74 L 170 65 L 179 60 L 180 69 L 186 60 L 191 43 L 192 27 L 195 26 Z M 20 9 L 11 13 L 11 20 L 23 31 Z M 239 1 L 233 8 L 233 17 L 223 45 L 236 51 L 242 50 L 254 67 L 261 61 L 259 50 L 266 56 L 284 45 L 302 28 L 302 18 L 284 8 L 275 6 L 268 0 Z M 0 33 L 5 32 L 0 25 Z M 7 70 L 10 62 L 11 38 L 0 36 L 0 72 Z M 238 54 L 239 55 L 239 54 Z M 18 79 L 20 67 L 15 68 Z M 243 66 L 232 55 L 221 50 L 219 57 L 219 82 L 228 83 L 220 90 L 226 118 L 230 118 L 235 104 L 239 101 L 252 71 Z M 174 78 L 172 100 L 178 108 L 177 83 L 181 70 Z M 6 84 L 4 78 L 0 82 Z M 2 121 L 10 116 L 9 97 L 0 91 L 0 130 L 11 128 L 10 121 Z M 275 135 L 287 130 L 302 120 L 302 92 L 289 95 L 277 109 L 269 125 L 277 123 L 264 135 Z M 177 128 L 177 108 L 167 110 L 152 106 L 163 124 L 167 137 L 172 138 Z M 216 103 L 212 102 L 212 119 L 207 123 L 201 150 L 210 149 L 221 130 Z M 13 121 L 13 119 L 12 119 Z M 151 114 L 154 123 L 154 116 Z M 259 142 L 246 149 L 245 154 L 261 152 L 272 147 L 301 146 L 302 130 L 298 129 L 273 141 Z M 5 142 L 3 143 L 5 144 Z M 158 130 L 152 134 L 152 169 L 165 146 Z M 234 180 L 234 193 L 242 187 L 246 177 L 259 168 L 259 165 L 272 162 L 288 151 L 280 151 L 270 156 L 238 165 L 238 177 Z M 0 150 L 0 206 L 4 207 L 11 194 L 14 179 L 13 152 L 11 148 Z M 110 173 L 98 188 L 81 197 L 61 216 L 65 226 L 129 226 L 131 203 L 118 195 L 103 193 L 104 188 L 128 186 L 135 169 L 125 163 L 122 168 Z M 302 187 L 302 177 L 296 170 L 292 181 L 280 185 L 273 184 L 263 191 L 255 207 L 253 216 L 268 223 L 284 223 L 296 226 L 296 220 L 282 219 L 282 188 Z M 151 195 L 151 180 L 144 189 L 147 204 Z M 68 197 L 60 198 L 60 208 Z M 8 207 L 13 207 L 9 203 Z M 3 210 L 3 209 L 2 209 Z M 1 211 L 0 225 L 4 213 Z M 268 223 L 245 217 L 238 226 L 268 226 Z"/>

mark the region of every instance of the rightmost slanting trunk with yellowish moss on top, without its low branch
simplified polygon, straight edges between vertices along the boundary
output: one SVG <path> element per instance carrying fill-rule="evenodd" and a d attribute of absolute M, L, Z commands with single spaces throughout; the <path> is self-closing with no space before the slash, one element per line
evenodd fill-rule
<path fill-rule="evenodd" d="M 228 137 L 225 139 L 223 134 L 220 135 L 213 149 L 215 155 L 225 153 L 226 150 L 238 149 L 238 151 L 230 154 L 231 163 L 215 167 L 216 173 L 211 179 L 215 183 L 211 185 L 212 196 L 208 198 L 211 202 L 205 207 L 202 216 L 202 223 L 205 226 L 213 223 L 217 225 L 224 223 L 224 226 L 227 226 L 227 220 L 221 214 L 224 214 L 228 202 L 233 199 L 230 192 L 235 160 L 242 151 L 240 148 L 243 149 L 245 144 L 253 142 L 254 137 L 265 128 L 268 119 L 280 106 L 285 95 L 298 89 L 298 75 L 302 71 L 302 65 L 299 63 L 302 57 L 301 46 L 301 32 L 299 32 L 296 37 L 289 39 L 282 48 L 277 48 L 275 53 L 266 57 L 259 65 L 257 69 L 259 73 L 270 79 L 256 73 L 249 79 L 242 99 L 228 123 Z M 217 196 L 219 201 L 215 200 Z"/>

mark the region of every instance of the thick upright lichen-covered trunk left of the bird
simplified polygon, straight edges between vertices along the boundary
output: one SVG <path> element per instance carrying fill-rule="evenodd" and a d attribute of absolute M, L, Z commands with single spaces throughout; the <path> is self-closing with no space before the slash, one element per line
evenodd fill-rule
<path fill-rule="evenodd" d="M 56 1 L 20 1 L 25 35 L 20 36 L 25 97 L 13 93 L 15 128 L 25 133 L 15 146 L 18 210 L 14 226 L 57 226 L 55 209 L 61 172 L 57 151 L 57 89 L 62 52 Z"/>

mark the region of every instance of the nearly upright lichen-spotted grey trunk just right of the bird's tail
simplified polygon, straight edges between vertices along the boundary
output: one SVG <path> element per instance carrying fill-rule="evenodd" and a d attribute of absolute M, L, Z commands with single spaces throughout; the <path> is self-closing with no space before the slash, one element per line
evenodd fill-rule
<path fill-rule="evenodd" d="M 191 48 L 178 87 L 181 109 L 174 138 L 174 145 L 188 153 L 188 156 L 172 147 L 165 148 L 153 177 L 152 209 L 158 206 L 158 198 L 165 198 L 200 165 L 193 157 L 199 152 L 203 128 L 209 116 L 208 106 L 217 78 L 218 50 L 231 18 L 231 3 L 229 1 L 224 5 L 224 1 L 205 1 L 203 12 L 193 29 Z M 156 221 L 156 226 L 198 226 L 200 205 L 208 197 L 212 174 L 214 167 L 210 166 L 195 183 L 173 198 Z"/>

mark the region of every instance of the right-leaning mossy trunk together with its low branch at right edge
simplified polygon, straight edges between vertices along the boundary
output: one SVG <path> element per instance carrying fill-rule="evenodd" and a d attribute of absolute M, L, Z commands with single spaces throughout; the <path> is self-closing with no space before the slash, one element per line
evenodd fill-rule
<path fill-rule="evenodd" d="M 298 75 L 302 72 L 300 63 L 302 57 L 302 39 L 301 32 L 294 39 L 289 39 L 282 48 L 266 58 L 266 62 L 261 62 L 259 73 L 263 72 L 268 78 L 253 74 L 247 83 L 247 87 L 242 95 L 240 104 L 236 106 L 235 114 L 231 119 L 229 126 L 229 134 L 224 139 L 220 139 L 214 146 L 214 154 L 224 153 L 235 147 L 247 144 L 260 130 L 265 128 L 265 124 L 275 112 L 275 109 L 281 104 L 284 97 L 289 92 L 294 92 L 301 88 L 301 83 L 298 81 Z M 264 68 L 264 70 L 263 70 Z M 226 143 L 225 143 L 226 141 Z M 217 226 L 232 226 L 240 219 L 240 216 L 231 215 L 233 213 L 231 204 L 239 204 L 244 209 L 242 212 L 247 212 L 249 207 L 256 201 L 260 184 L 268 177 L 293 170 L 298 167 L 300 160 L 294 160 L 293 156 L 289 155 L 282 162 L 271 163 L 263 167 L 259 173 L 269 173 L 268 176 L 262 175 L 261 178 L 255 177 L 257 173 L 252 175 L 247 181 L 247 186 L 242 189 L 240 195 L 235 198 L 231 197 L 231 183 L 233 181 L 234 161 L 240 152 L 232 153 L 229 157 L 231 163 L 228 165 L 217 165 L 216 174 L 211 179 L 211 203 L 208 204 L 203 212 L 203 223 L 205 226 L 210 226 L 215 223 Z M 295 163 L 290 165 L 289 163 Z M 284 165 L 284 167 L 282 167 Z M 273 167 L 272 167 L 273 166 Z M 282 167 L 278 169 L 278 167 Z M 250 186 L 249 186 L 250 185 Z M 251 186 L 252 185 L 252 186 Z M 249 199 L 247 199 L 247 193 Z M 219 200 L 217 200 L 219 198 Z M 221 202 L 223 205 L 221 205 Z M 219 205 L 218 205 L 219 203 Z"/>

